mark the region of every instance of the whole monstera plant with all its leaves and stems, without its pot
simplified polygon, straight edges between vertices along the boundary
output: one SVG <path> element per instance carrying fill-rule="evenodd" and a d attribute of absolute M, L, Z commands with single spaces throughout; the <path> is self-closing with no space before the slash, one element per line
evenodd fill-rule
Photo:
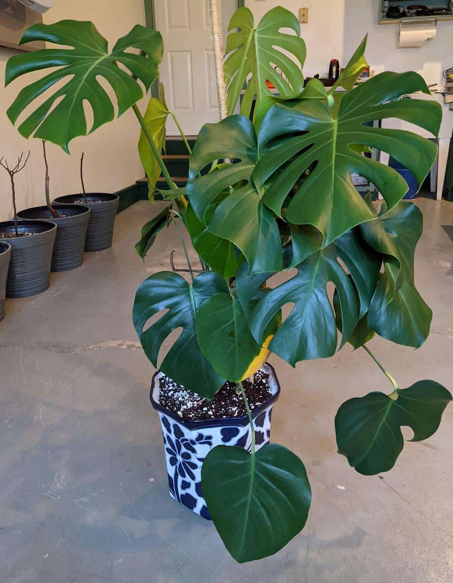
<path fill-rule="evenodd" d="M 400 388 L 367 345 L 377 333 L 419 347 L 429 334 L 431 310 L 414 282 L 420 210 L 402 201 L 408 186 L 401 175 L 371 160 L 366 151 L 388 152 L 421 185 L 436 159 L 434 143 L 372 122 L 399 118 L 436 136 L 441 108 L 435 101 L 399 99 L 429 93 L 413 72 L 384 72 L 354 87 L 366 66 L 366 38 L 327 90 L 317 79 L 304 82 L 305 43 L 288 10 L 270 10 L 255 27 L 250 10 L 240 8 L 230 30 L 225 60 L 229 116 L 201 129 L 184 189 L 172 184 L 160 156 L 169 115 L 165 101 L 154 97 L 145 117 L 136 106 L 142 86 L 148 90 L 158 76 L 158 32 L 136 26 L 108 52 L 107 41 L 91 23 L 31 27 L 23 42 L 65 48 L 9 60 L 6 83 L 32 71 L 52 67 L 52 72 L 24 87 L 8 116 L 16 122 L 24 108 L 48 92 L 19 131 L 68 151 L 72 138 L 114 118 L 114 104 L 97 78 L 107 80 L 118 114 L 130 107 L 135 111 L 141 159 L 154 184 L 156 168 L 162 171 L 169 187 L 166 198 L 172 201 L 144 226 L 137 251 L 144 257 L 165 226 L 183 224 L 203 268 L 195 272 L 186 252 L 189 281 L 165 271 L 151 275 L 137 291 L 133 319 L 151 363 L 205 399 L 213 398 L 226 380 L 236 383 L 252 424 L 242 380 L 270 352 L 295 366 L 330 357 L 346 343 L 361 347 L 392 390 L 359 395 L 339 408 L 338 451 L 364 475 L 385 472 L 402 451 L 401 427 L 411 427 L 415 441 L 430 437 L 452 398 L 431 380 Z M 52 93 L 63 79 L 65 84 Z M 91 128 L 84 101 L 93 110 Z M 240 114 L 233 114 L 239 101 Z M 353 173 L 376 185 L 384 197 L 380 208 L 356 191 Z M 275 273 L 281 283 L 267 286 Z M 292 310 L 285 315 L 288 310 L 282 308 L 288 305 Z M 158 312 L 160 318 L 147 325 Z M 182 332 L 158 363 L 164 340 L 176 329 Z M 256 451 L 253 439 L 251 451 L 215 447 L 201 476 L 215 527 L 240 562 L 277 552 L 305 525 L 311 500 L 306 470 L 283 445 Z"/>

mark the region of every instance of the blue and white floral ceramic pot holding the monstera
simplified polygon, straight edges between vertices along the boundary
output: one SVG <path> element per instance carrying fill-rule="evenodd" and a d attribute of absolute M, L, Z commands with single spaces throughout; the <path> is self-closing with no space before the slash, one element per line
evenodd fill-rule
<path fill-rule="evenodd" d="M 268 444 L 271 436 L 272 407 L 280 394 L 274 368 L 264 364 L 272 396 L 252 412 L 256 450 Z M 170 496 L 203 518 L 211 519 L 201 493 L 201 466 L 216 445 L 238 445 L 250 451 L 252 434 L 247 416 L 187 421 L 159 404 L 160 379 L 157 372 L 151 384 L 151 405 L 159 413 L 164 437 Z"/>

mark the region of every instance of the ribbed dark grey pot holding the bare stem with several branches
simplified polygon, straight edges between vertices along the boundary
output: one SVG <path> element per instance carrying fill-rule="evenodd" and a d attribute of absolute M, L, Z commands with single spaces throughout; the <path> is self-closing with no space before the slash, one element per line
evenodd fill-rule
<path fill-rule="evenodd" d="M 11 259 L 6 297 L 36 296 L 49 287 L 56 224 L 50 221 L 19 220 L 17 230 L 34 233 L 29 237 L 9 237 Z M 0 231 L 14 233 L 14 222 L 0 223 Z"/>

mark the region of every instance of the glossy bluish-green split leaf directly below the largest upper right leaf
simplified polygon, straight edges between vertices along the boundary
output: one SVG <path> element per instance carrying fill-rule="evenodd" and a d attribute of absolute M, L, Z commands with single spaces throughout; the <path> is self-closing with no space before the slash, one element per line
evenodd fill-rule
<path fill-rule="evenodd" d="M 338 259 L 344 262 L 349 276 Z M 366 313 L 376 285 L 381 260 L 356 233 L 310 255 L 298 273 L 272 289 L 250 314 L 250 329 L 257 342 L 270 319 L 286 304 L 294 308 L 269 345 L 291 366 L 299 360 L 326 358 L 337 349 L 337 325 L 326 290 L 332 282 L 338 293 L 344 345 L 359 318 Z"/>

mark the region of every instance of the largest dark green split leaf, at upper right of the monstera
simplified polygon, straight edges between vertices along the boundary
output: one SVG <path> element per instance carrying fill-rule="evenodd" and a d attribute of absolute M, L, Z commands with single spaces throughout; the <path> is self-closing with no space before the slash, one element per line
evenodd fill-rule
<path fill-rule="evenodd" d="M 437 135 L 442 115 L 437 101 L 395 101 L 416 91 L 429 93 L 417 73 L 385 72 L 345 94 L 338 115 L 321 100 L 272 107 L 261 123 L 253 171 L 257 188 L 268 185 L 263 202 L 277 215 L 284 207 L 291 223 L 317 227 L 324 245 L 374 217 L 353 186 L 352 173 L 373 182 L 388 209 L 393 208 L 408 190 L 406 181 L 393 168 L 361 156 L 354 145 L 390 153 L 421 185 L 436 159 L 436 145 L 412 132 L 363 125 L 396 117 Z M 309 175 L 300 180 L 307 170 Z"/>

